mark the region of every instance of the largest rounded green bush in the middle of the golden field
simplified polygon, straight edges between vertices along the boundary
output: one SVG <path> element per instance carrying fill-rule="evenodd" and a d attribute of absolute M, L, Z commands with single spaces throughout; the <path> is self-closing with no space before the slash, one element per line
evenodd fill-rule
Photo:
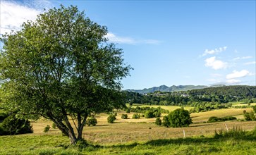
<path fill-rule="evenodd" d="M 168 115 L 169 121 L 171 123 L 171 127 L 179 128 L 179 127 L 188 127 L 192 123 L 192 119 L 190 118 L 190 113 L 184 109 L 176 109 L 172 111 Z"/>

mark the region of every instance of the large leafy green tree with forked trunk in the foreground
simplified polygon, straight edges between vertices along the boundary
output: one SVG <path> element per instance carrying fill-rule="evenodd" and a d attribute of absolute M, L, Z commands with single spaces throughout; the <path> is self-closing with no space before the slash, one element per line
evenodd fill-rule
<path fill-rule="evenodd" d="M 1 37 L 6 107 L 52 120 L 72 144 L 83 140 L 87 116 L 124 106 L 121 79 L 131 68 L 106 34 L 77 7 L 61 6 Z"/>

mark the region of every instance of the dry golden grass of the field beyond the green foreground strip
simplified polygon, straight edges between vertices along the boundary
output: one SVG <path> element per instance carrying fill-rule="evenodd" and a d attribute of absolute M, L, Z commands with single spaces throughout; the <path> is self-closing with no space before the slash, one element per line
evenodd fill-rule
<path fill-rule="evenodd" d="M 216 111 L 207 111 L 202 113 L 192 113 L 193 124 L 188 128 L 165 128 L 154 124 L 155 118 L 140 118 L 131 119 L 133 113 L 127 113 L 130 119 L 121 119 L 123 111 L 118 111 L 117 120 L 113 124 L 106 121 L 107 114 L 101 113 L 96 116 L 97 125 L 85 127 L 83 137 L 85 140 L 97 144 L 124 144 L 126 142 L 138 142 L 158 139 L 169 139 L 176 137 L 183 137 L 183 130 L 185 130 L 185 137 L 195 136 L 209 136 L 214 135 L 215 130 L 226 130 L 228 128 L 239 127 L 243 130 L 252 130 L 255 128 L 255 121 L 227 121 L 219 123 L 202 123 L 206 122 L 209 117 L 225 117 L 225 116 L 242 116 L 243 110 L 251 111 L 252 109 L 220 109 Z M 32 123 L 34 128 L 34 135 L 61 135 L 58 129 L 50 129 L 48 133 L 44 133 L 44 127 L 51 125 L 49 120 L 37 120 Z M 226 125 L 225 125 L 226 124 Z"/>

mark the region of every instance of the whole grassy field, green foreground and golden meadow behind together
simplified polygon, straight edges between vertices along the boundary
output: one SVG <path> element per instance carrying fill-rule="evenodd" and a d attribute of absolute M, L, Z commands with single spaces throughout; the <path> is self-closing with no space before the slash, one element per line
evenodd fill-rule
<path fill-rule="evenodd" d="M 161 106 L 173 111 L 177 107 Z M 190 107 L 185 107 L 190 109 Z M 193 124 L 188 128 L 165 128 L 154 124 L 155 118 L 121 119 L 124 111 L 116 111 L 117 120 L 106 122 L 108 115 L 102 113 L 97 125 L 85 127 L 83 137 L 92 146 L 86 148 L 69 147 L 68 137 L 61 136 L 58 129 L 51 128 L 44 133 L 44 127 L 51 121 L 40 119 L 32 123 L 34 133 L 0 137 L 0 154 L 256 154 L 256 137 L 250 136 L 255 129 L 255 121 L 240 121 L 243 111 L 252 109 L 220 109 L 192 113 Z M 163 114 L 164 116 L 166 114 Z M 236 116 L 238 120 L 205 123 L 211 116 Z M 216 139 L 216 131 L 240 128 L 246 130 L 245 137 Z M 185 137 L 183 135 L 185 132 Z"/>

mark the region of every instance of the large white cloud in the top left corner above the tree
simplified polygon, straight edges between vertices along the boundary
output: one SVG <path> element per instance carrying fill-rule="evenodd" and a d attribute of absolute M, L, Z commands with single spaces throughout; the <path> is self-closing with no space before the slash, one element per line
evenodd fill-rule
<path fill-rule="evenodd" d="M 23 1 L 23 4 L 18 1 L 1 1 L 0 4 L 0 35 L 20 30 L 24 22 L 35 20 L 44 11 L 43 8 L 51 7 L 51 2 L 47 0 Z"/>

